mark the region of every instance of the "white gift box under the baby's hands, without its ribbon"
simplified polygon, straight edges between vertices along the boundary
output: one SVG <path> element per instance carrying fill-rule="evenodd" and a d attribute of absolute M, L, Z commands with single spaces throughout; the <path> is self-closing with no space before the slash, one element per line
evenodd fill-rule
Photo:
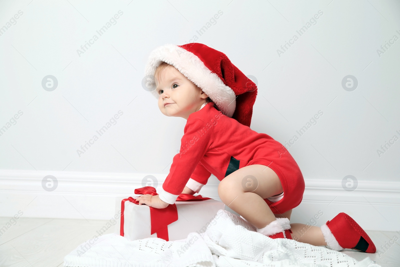
<path fill-rule="evenodd" d="M 136 198 L 136 196 L 132 196 Z M 116 214 L 121 213 L 121 201 L 128 197 L 116 197 Z M 124 237 L 128 240 L 157 237 L 157 233 L 150 235 L 150 207 L 125 201 L 124 207 Z M 204 233 L 212 224 L 217 211 L 225 209 L 225 204 L 215 199 L 201 201 L 176 201 L 178 221 L 168 225 L 168 240 L 185 239 L 191 232 Z M 120 235 L 121 217 L 115 225 L 115 233 Z"/>

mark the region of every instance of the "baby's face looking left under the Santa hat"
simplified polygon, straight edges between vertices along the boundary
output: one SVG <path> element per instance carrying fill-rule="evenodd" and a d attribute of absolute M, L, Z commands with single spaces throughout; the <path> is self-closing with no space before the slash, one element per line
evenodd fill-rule
<path fill-rule="evenodd" d="M 156 92 L 159 95 L 158 108 L 166 116 L 187 120 L 190 114 L 200 109 L 208 97 L 173 66 L 159 70 L 155 78 Z"/>

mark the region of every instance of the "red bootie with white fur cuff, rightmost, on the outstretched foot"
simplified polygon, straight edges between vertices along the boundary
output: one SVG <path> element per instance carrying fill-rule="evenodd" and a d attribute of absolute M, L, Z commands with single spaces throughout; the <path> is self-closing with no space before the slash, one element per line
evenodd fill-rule
<path fill-rule="evenodd" d="M 356 249 L 375 253 L 376 248 L 365 231 L 346 213 L 339 213 L 332 220 L 321 226 L 325 242 L 330 249 L 342 251 Z"/>

